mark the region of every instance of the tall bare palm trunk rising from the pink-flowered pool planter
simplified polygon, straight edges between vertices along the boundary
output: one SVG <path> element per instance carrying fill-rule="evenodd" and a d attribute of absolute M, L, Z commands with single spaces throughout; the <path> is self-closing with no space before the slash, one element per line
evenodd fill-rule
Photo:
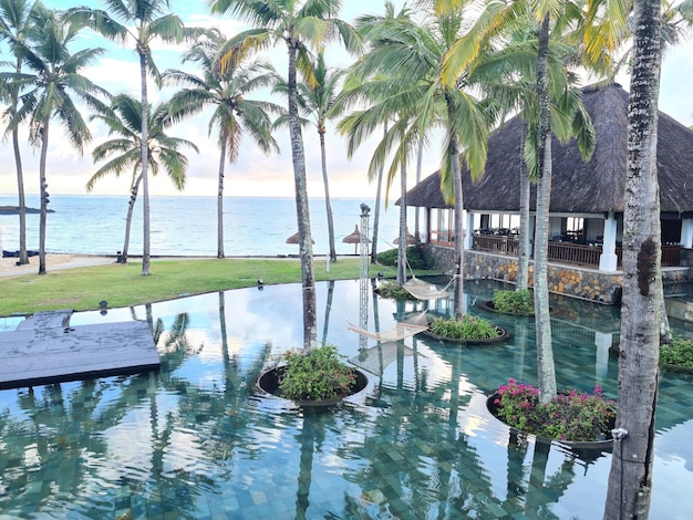
<path fill-rule="evenodd" d="M 539 401 L 556 396 L 556 368 L 549 315 L 548 247 L 551 198 L 551 126 L 548 91 L 549 15 L 541 21 L 538 34 L 537 98 L 539 103 L 539 181 L 537 183 L 537 229 L 535 232 L 535 313 L 537 330 L 537 373 Z"/>

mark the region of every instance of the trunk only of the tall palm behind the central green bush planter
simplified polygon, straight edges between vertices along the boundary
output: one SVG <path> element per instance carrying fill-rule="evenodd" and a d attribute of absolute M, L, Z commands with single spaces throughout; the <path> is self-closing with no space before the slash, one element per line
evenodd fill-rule
<path fill-rule="evenodd" d="M 313 277 L 313 246 L 310 232 L 310 211 L 306 187 L 306 156 L 299 118 L 296 89 L 297 41 L 288 40 L 289 46 L 289 134 L 296 185 L 296 216 L 299 229 L 299 256 L 301 258 L 301 287 L 303 289 L 303 349 L 310 349 L 318 340 L 316 280 Z"/>

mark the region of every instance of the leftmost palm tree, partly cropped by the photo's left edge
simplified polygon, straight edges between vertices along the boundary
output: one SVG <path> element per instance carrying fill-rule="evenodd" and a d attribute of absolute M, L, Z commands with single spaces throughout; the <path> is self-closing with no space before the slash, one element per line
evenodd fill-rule
<path fill-rule="evenodd" d="M 22 71 L 22 61 L 17 50 L 27 41 L 28 33 L 32 30 L 30 12 L 34 3 L 24 0 L 0 0 L 0 39 L 7 41 L 15 55 L 14 71 Z M 10 92 L 10 111 L 12 117 L 17 113 L 18 93 Z M 24 197 L 24 173 L 22 158 L 19 149 L 19 128 L 11 128 L 12 149 L 14 152 L 14 165 L 17 169 L 17 194 L 19 206 L 19 263 L 29 263 L 27 254 L 27 201 Z"/>

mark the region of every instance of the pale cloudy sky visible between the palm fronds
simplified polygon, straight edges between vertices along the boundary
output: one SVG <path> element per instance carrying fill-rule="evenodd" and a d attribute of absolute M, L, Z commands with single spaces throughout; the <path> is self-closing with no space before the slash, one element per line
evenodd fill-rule
<path fill-rule="evenodd" d="M 100 1 L 79 0 L 43 0 L 51 8 L 66 9 L 76 4 L 87 4 L 93 8 L 103 8 Z M 382 1 L 344 0 L 341 18 L 353 21 L 362 13 L 382 13 Z M 395 7 L 401 7 L 404 0 L 393 0 Z M 173 0 L 173 10 L 179 14 L 187 25 L 218 27 L 228 37 L 246 29 L 246 27 L 228 15 L 218 17 L 209 13 L 207 0 Z M 85 69 L 84 75 L 96 84 L 107 89 L 111 93 L 126 93 L 139 97 L 139 72 L 137 55 L 132 48 L 107 42 L 103 38 L 85 33 L 84 46 L 103 46 L 106 52 L 97 64 Z M 155 45 L 154 59 L 159 70 L 180 69 L 179 55 L 183 48 L 172 48 L 164 44 Z M 0 46 L 0 51 L 7 51 Z M 346 66 L 349 55 L 338 48 L 329 48 L 328 56 L 333 66 Z M 269 55 L 269 60 L 278 72 L 286 76 L 286 51 L 276 48 Z M 628 76 L 621 76 L 618 81 L 628 90 Z M 691 82 L 693 81 L 693 39 L 689 39 L 679 48 L 668 51 L 662 65 L 662 79 L 660 90 L 660 110 L 686 126 L 693 125 L 693 95 L 691 95 Z M 586 84 L 589 81 L 586 82 Z M 158 92 L 149 85 L 149 100 L 154 103 L 164 101 L 170 90 Z M 286 105 L 283 96 L 269 93 L 263 96 L 271 101 Z M 80 155 L 74 150 L 63 133 L 58 129 L 58 124 L 52 126 L 50 149 L 46 168 L 49 193 L 53 195 L 86 195 L 85 184 L 101 165 L 94 165 L 91 158 L 93 146 L 107 138 L 105 128 L 93 124 L 90 126 L 93 141 Z M 154 196 L 188 195 L 188 196 L 216 196 L 219 150 L 216 139 L 207 135 L 207 119 L 205 115 L 188 119 L 172 128 L 170 134 L 193 141 L 199 147 L 199 154 L 193 150 L 186 152 L 189 167 L 187 183 L 183 193 L 177 191 L 165 174 L 152 178 L 149 183 L 151 194 Z M 276 138 L 281 148 L 279 155 L 263 155 L 249 141 L 241 144 L 238 160 L 226 167 L 225 195 L 227 196 L 262 196 L 262 197 L 293 197 L 293 169 L 289 146 L 288 129 L 278 131 Z M 20 133 L 20 141 L 27 141 L 25 133 Z M 322 197 L 324 187 L 320 164 L 320 145 L 318 133 L 314 127 L 303 129 L 303 141 L 307 160 L 308 193 L 311 197 Z M 330 179 L 330 195 L 332 197 L 375 197 L 375 184 L 366 177 L 368 166 L 376 139 L 366 142 L 354 155 L 346 155 L 345 141 L 334 131 L 334 125 L 329 127 L 327 135 L 328 173 Z M 11 145 L 8 139 L 0 142 L 0 157 L 3 158 L 0 166 L 0 194 L 17 194 L 17 176 Z M 426 149 L 423 164 L 423 176 L 433 173 L 439 165 L 441 149 L 435 143 Z M 24 163 L 24 186 L 28 194 L 39 193 L 39 149 L 27 148 L 22 156 Z M 408 174 L 410 187 L 415 184 L 414 167 Z M 120 178 L 112 176 L 97 181 L 92 194 L 95 195 L 128 195 L 130 175 Z M 399 186 L 399 183 L 395 183 Z M 399 198 L 399 189 L 393 188 L 391 199 Z"/>

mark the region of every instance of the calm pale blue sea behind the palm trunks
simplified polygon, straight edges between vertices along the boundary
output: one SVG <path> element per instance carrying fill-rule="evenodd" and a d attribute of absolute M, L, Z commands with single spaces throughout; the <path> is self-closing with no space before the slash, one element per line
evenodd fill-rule
<path fill-rule="evenodd" d="M 142 201 L 137 201 L 131 231 L 130 253 L 142 253 Z M 371 208 L 371 228 L 375 201 L 372 199 L 332 199 L 335 249 L 338 254 L 353 254 L 354 245 L 342 239 L 360 225 L 361 202 Z M 15 206 L 15 196 L 0 196 L 0 206 Z M 38 208 L 38 196 L 29 196 L 27 206 Z M 46 250 L 84 254 L 115 254 L 123 249 L 127 197 L 51 196 L 48 216 Z M 397 236 L 399 207 L 386 210 L 381 204 L 377 250 L 392 248 Z M 286 243 L 297 230 L 293 198 L 240 198 L 224 201 L 225 253 L 232 256 L 296 254 L 298 245 Z M 216 256 L 216 197 L 152 197 L 151 240 L 153 256 Z M 324 199 L 310 200 L 313 252 L 329 252 Z M 27 247 L 39 248 L 39 216 L 27 217 Z M 371 231 L 372 233 L 372 231 Z M 2 249 L 19 248 L 19 218 L 0 215 Z"/>

